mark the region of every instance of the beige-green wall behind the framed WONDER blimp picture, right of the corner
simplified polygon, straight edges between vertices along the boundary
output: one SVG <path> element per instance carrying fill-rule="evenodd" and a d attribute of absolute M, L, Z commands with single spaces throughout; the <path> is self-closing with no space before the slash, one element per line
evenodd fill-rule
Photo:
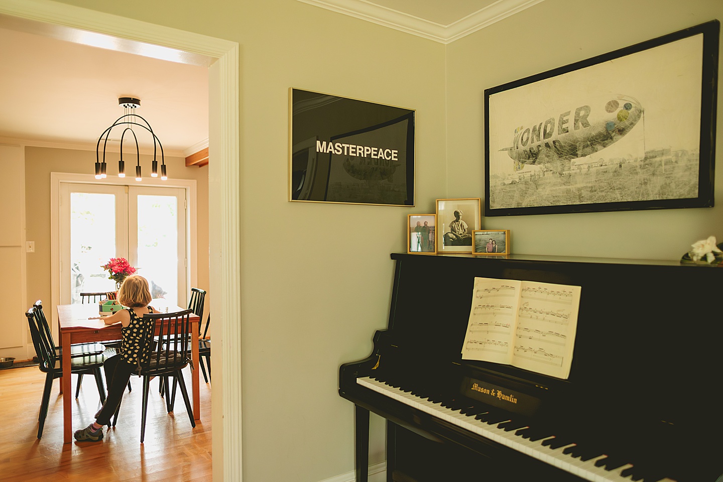
<path fill-rule="evenodd" d="M 722 17 L 719 0 L 546 0 L 451 43 L 450 191 L 484 196 L 484 89 Z M 719 133 L 722 111 L 719 106 Z M 718 159 L 721 146 L 719 142 Z M 714 235 L 723 241 L 722 176 L 718 169 L 713 208 L 492 217 L 482 222 L 484 228 L 510 229 L 516 253 L 675 260 L 698 239 Z"/>

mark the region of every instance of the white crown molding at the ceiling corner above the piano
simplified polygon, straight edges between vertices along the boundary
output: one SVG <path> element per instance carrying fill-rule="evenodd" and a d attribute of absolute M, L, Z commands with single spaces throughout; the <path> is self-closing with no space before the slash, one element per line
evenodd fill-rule
<path fill-rule="evenodd" d="M 440 43 L 451 43 L 465 37 L 495 22 L 503 20 L 510 15 L 539 4 L 543 0 L 498 0 L 484 9 L 467 15 L 466 17 L 442 25 L 430 22 L 414 15 L 399 12 L 398 10 L 381 7 L 365 0 L 298 0 L 305 4 L 321 7 L 356 17 L 367 22 L 390 27 L 402 32 L 411 33 L 419 37 L 435 40 Z"/>

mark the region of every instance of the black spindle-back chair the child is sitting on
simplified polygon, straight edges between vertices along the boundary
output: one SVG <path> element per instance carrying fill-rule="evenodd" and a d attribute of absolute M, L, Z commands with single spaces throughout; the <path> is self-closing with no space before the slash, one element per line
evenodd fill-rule
<path fill-rule="evenodd" d="M 174 379 L 174 387 L 176 384 L 181 388 L 186 410 L 188 412 L 191 426 L 195 427 L 196 422 L 193 419 L 193 409 L 191 401 L 186 389 L 186 383 L 181 372 L 191 361 L 189 343 L 186 342 L 189 336 L 189 328 L 191 323 L 189 316 L 191 309 L 177 311 L 176 313 L 153 313 L 143 315 L 143 322 L 147 323 L 145 337 L 141 342 L 141 353 L 147 353 L 145 361 L 140 363 L 140 369 L 134 371 L 134 374 L 143 377 L 143 398 L 142 398 L 142 418 L 140 426 L 140 442 L 145 439 L 145 418 L 148 408 L 148 391 L 150 390 L 150 379 L 158 376 L 163 380 L 166 393 L 168 393 L 168 377 Z M 154 339 L 154 333 L 157 338 Z M 158 341 L 158 343 L 155 343 Z M 174 390 L 174 395 L 175 395 Z M 173 397 L 166 397 L 166 409 L 168 412 L 173 410 Z M 113 426 L 116 426 L 118 414 L 121 405 L 118 405 L 113 418 Z"/>

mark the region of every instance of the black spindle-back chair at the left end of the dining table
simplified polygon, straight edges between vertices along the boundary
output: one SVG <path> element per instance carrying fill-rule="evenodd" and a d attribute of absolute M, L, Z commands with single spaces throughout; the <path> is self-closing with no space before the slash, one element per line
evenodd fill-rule
<path fill-rule="evenodd" d="M 25 312 L 27 324 L 30 327 L 30 336 L 33 338 L 35 355 L 38 356 L 38 368 L 46 374 L 45 387 L 43 388 L 43 399 L 40 403 L 40 414 L 38 415 L 38 439 L 43 436 L 43 426 L 48 416 L 48 405 L 50 404 L 50 392 L 53 387 L 53 380 L 63 376 L 63 365 L 60 354 L 56 351 L 55 343 L 50 332 L 46 330 L 45 315 L 42 306 L 33 306 Z M 95 384 L 98 386 L 100 402 L 106 401 L 106 387 L 103 386 L 103 376 L 100 374 L 100 367 L 105 361 L 103 353 L 95 355 L 72 356 L 70 359 L 70 371 L 74 374 L 92 374 L 95 376 Z M 66 394 L 67 396 L 68 394 Z"/>

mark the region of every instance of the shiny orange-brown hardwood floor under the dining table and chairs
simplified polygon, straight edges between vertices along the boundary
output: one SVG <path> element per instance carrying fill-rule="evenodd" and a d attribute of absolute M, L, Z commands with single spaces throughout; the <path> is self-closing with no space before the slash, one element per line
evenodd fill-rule
<path fill-rule="evenodd" d="M 191 388 L 189 374 L 186 384 Z M 74 395 L 76 376 L 73 375 Z M 192 481 L 211 482 L 211 386 L 201 377 L 201 420 L 192 429 L 180 391 L 174 413 L 151 382 L 145 441 L 140 443 L 142 379 L 131 378 L 114 429 L 103 427 L 102 442 L 63 444 L 63 395 L 53 383 L 43 438 L 38 411 L 45 374 L 37 366 L 0 370 L 0 481 Z M 86 375 L 73 400 L 73 429 L 93 421 L 98 389 Z"/>

